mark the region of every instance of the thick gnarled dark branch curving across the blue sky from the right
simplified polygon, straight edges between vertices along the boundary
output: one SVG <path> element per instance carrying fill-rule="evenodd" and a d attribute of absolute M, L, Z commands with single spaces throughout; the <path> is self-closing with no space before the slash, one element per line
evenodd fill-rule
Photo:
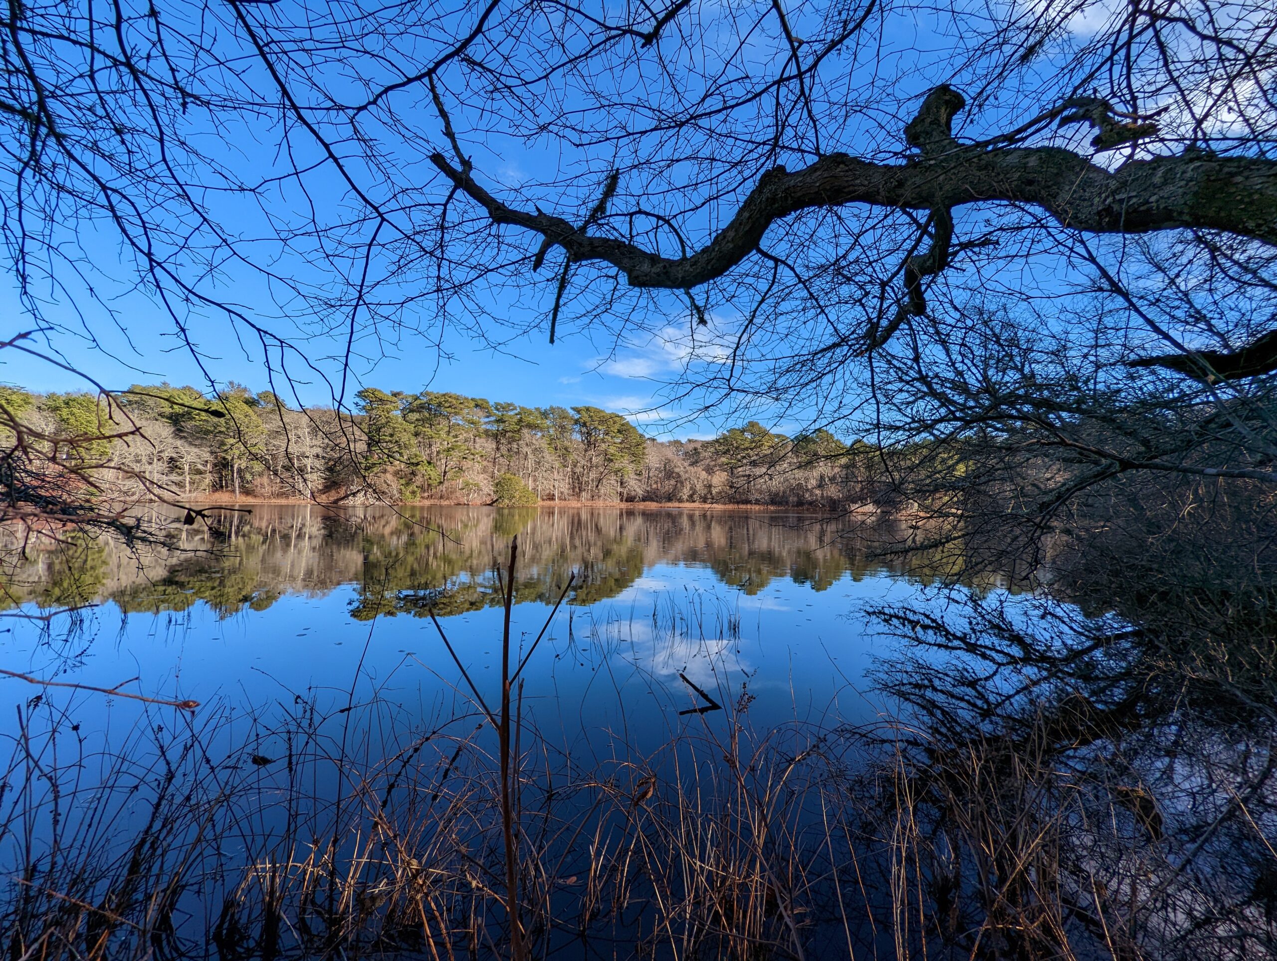
<path fill-rule="evenodd" d="M 870 204 L 953 211 L 976 203 L 1038 207 L 1059 223 L 1096 234 L 1147 234 L 1180 227 L 1218 230 L 1277 245 L 1277 162 L 1190 152 L 1130 161 L 1105 170 L 1057 147 L 963 145 L 949 123 L 962 96 L 939 87 L 907 128 L 922 156 L 872 163 L 845 153 L 808 167 L 764 174 L 736 216 L 707 245 L 665 258 L 614 237 L 591 236 L 567 220 L 498 200 L 469 170 L 442 153 L 434 165 L 497 223 L 524 227 L 562 246 L 573 262 L 603 260 L 635 287 L 686 290 L 730 271 L 748 257 L 773 222 L 799 211 Z"/>

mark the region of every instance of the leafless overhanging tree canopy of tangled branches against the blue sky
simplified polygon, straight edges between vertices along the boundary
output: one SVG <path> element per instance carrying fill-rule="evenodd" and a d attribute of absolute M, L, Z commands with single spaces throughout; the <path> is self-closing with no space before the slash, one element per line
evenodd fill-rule
<path fill-rule="evenodd" d="M 24 5 L 5 236 L 32 314 L 128 268 L 281 397 L 336 338 L 338 410 L 387 336 L 682 318 L 693 408 L 894 429 L 918 411 L 884 383 L 985 391 L 992 315 L 1036 333 L 1036 380 L 997 391 L 1245 403 L 1277 364 L 1272 27 L 1216 0 Z"/>

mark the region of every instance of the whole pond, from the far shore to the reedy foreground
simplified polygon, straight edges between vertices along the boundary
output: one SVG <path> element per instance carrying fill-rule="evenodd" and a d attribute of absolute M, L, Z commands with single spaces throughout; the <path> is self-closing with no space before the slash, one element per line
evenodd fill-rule
<path fill-rule="evenodd" d="M 9 555 L 15 958 L 1277 946 L 1272 634 L 1133 622 L 1102 540 L 1028 591 L 871 517 L 144 519 Z"/>

